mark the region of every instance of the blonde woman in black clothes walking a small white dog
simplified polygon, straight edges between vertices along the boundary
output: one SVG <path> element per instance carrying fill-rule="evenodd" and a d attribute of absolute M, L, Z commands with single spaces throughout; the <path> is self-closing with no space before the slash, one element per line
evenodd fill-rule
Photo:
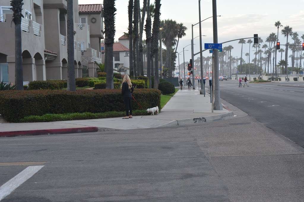
<path fill-rule="evenodd" d="M 121 94 L 123 94 L 123 102 L 126 107 L 126 116 L 123 119 L 129 119 L 132 117 L 132 93 L 134 88 L 132 87 L 132 83 L 130 77 L 125 75 L 123 77 L 123 84 L 121 85 Z M 129 114 L 130 111 L 130 114 Z"/>

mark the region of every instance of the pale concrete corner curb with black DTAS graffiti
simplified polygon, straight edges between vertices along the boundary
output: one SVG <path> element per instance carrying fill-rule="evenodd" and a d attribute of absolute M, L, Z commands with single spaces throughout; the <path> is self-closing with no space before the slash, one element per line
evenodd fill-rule
<path fill-rule="evenodd" d="M 212 122 L 212 121 L 221 121 L 224 119 L 228 119 L 233 117 L 233 111 L 230 111 L 225 114 L 218 114 L 218 115 L 212 115 L 212 116 L 206 116 L 206 117 L 198 117 L 198 118 L 191 118 L 191 119 L 183 119 L 183 120 L 177 120 L 177 123 L 179 126 L 185 126 L 185 125 L 198 125 L 203 124 L 206 122 Z"/>

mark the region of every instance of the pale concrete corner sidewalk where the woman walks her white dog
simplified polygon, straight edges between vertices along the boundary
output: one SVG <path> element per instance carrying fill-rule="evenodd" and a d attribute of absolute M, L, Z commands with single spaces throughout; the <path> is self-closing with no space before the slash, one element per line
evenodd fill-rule
<path fill-rule="evenodd" d="M 106 118 L 50 123 L 2 123 L 0 124 L 0 137 L 194 125 L 230 117 L 233 117 L 233 112 L 227 109 L 212 113 L 208 94 L 203 97 L 198 90 L 179 90 L 158 115 L 137 116 L 127 120 Z"/>

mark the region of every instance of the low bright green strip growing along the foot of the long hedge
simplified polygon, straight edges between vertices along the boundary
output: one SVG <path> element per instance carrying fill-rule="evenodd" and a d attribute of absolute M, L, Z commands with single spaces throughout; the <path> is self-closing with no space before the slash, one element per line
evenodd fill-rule
<path fill-rule="evenodd" d="M 149 115 L 145 110 L 133 111 L 133 116 Z M 67 113 L 67 114 L 44 114 L 42 116 L 27 116 L 20 120 L 21 123 L 53 122 L 53 121 L 73 121 L 101 118 L 117 118 L 126 116 L 124 111 L 108 111 L 103 113 Z"/>

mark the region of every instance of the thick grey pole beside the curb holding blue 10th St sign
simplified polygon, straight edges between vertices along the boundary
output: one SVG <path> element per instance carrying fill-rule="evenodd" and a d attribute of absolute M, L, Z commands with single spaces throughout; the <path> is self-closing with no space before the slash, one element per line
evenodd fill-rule
<path fill-rule="evenodd" d="M 216 14 L 216 0 L 212 0 L 212 10 L 213 10 L 213 43 L 218 43 L 217 38 L 217 14 Z M 223 106 L 220 102 L 220 91 L 219 91 L 219 52 L 214 52 L 214 109 L 223 110 Z"/>

